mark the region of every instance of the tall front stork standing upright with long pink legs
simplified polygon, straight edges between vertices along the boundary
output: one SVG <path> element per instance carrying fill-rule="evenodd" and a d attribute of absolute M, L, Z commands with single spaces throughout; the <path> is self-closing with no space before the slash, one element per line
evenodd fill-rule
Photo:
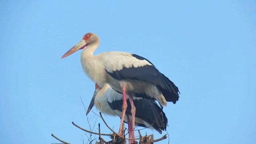
<path fill-rule="evenodd" d="M 132 130 L 135 127 L 136 112 L 132 94 L 157 100 L 161 106 L 167 106 L 167 102 L 175 104 L 178 101 L 178 87 L 159 72 L 149 60 L 128 52 L 102 52 L 93 55 L 99 44 L 100 38 L 96 34 L 86 33 L 82 40 L 68 50 L 62 58 L 86 47 L 82 51 L 80 59 L 86 75 L 100 87 L 107 83 L 114 90 L 123 94 L 119 134 L 122 132 L 122 123 L 127 109 L 126 94 L 128 94 L 131 104 Z"/>

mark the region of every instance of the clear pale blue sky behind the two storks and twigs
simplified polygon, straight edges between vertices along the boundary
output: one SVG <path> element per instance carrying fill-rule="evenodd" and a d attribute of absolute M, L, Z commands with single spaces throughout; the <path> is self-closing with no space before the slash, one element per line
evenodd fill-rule
<path fill-rule="evenodd" d="M 138 54 L 178 86 L 179 101 L 164 108 L 171 144 L 256 142 L 255 0 L 2 0 L 0 9 L 0 143 L 86 140 L 71 122 L 89 128 L 79 96 L 88 106 L 94 83 L 81 51 L 60 59 L 86 32 L 101 38 L 96 54 Z M 119 118 L 106 119 L 118 130 Z"/>

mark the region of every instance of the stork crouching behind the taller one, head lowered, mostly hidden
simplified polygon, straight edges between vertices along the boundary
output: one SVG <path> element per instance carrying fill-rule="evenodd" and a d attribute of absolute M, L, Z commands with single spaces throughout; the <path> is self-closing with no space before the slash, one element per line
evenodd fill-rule
<path fill-rule="evenodd" d="M 167 125 L 167 118 L 162 108 L 160 108 L 154 100 L 138 98 L 134 94 L 132 94 L 132 100 L 136 107 L 135 125 L 155 129 L 162 134 L 162 130 L 166 130 Z M 90 112 L 94 104 L 96 108 L 104 114 L 122 117 L 123 96 L 121 93 L 112 89 L 108 84 L 104 84 L 102 88 L 100 88 L 98 84 L 95 84 L 95 91 L 86 115 Z M 129 111 L 131 110 L 129 101 L 127 110 L 124 121 L 128 123 L 129 138 L 132 138 L 134 137 L 132 136 L 134 133 L 130 135 L 130 131 L 132 130 L 130 117 L 132 114 Z"/>

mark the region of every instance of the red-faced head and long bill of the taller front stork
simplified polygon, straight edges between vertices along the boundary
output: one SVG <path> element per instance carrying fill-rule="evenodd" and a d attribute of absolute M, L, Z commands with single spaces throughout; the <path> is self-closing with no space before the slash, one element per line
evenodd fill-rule
<path fill-rule="evenodd" d="M 65 58 L 70 54 L 73 54 L 74 52 L 83 49 L 86 46 L 99 43 L 100 38 L 96 34 L 88 32 L 83 36 L 82 40 L 80 40 L 75 46 L 68 50 L 68 52 L 66 52 L 66 54 L 64 54 L 61 58 Z"/>

